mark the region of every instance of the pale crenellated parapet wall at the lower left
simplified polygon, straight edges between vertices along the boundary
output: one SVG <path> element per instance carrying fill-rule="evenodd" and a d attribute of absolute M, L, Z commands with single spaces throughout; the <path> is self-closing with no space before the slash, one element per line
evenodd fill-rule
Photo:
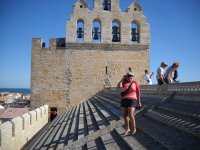
<path fill-rule="evenodd" d="M 48 106 L 45 105 L 0 124 L 0 149 L 21 149 L 47 123 Z"/>

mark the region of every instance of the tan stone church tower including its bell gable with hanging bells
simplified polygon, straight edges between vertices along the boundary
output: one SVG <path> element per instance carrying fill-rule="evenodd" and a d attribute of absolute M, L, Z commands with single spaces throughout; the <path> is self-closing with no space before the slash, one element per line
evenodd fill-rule
<path fill-rule="evenodd" d="M 133 2 L 125 12 L 119 0 L 77 0 L 67 20 L 66 38 L 33 39 L 31 105 L 63 110 L 116 87 L 131 68 L 139 83 L 149 68 L 150 29 L 143 8 Z"/>

